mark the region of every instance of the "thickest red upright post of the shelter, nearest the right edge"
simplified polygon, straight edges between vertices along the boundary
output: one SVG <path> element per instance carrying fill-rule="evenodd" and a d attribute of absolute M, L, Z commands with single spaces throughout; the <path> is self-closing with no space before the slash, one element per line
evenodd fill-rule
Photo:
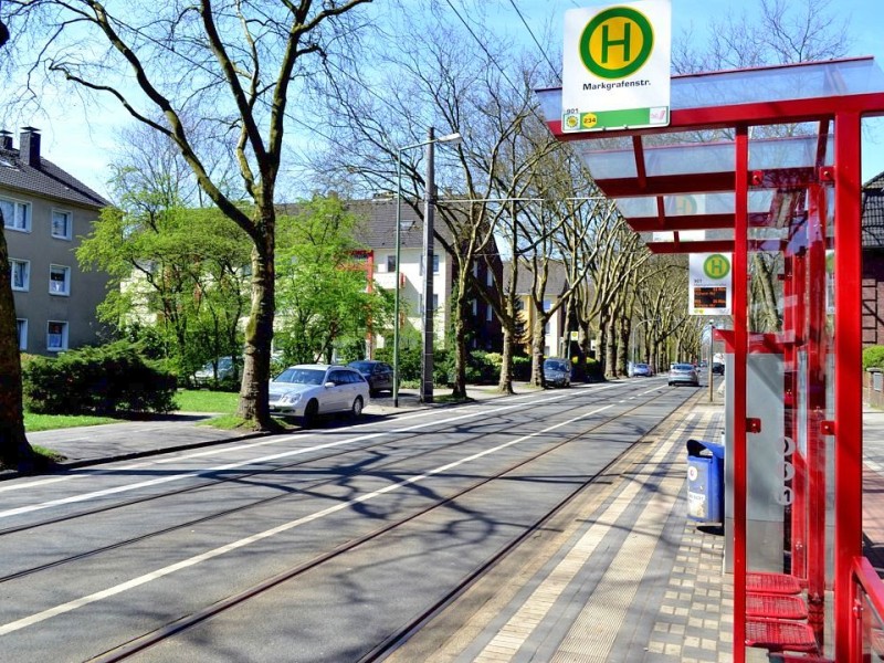
<path fill-rule="evenodd" d="M 850 651 L 851 567 L 862 555 L 862 232 L 860 114 L 835 115 L 835 660 Z"/>

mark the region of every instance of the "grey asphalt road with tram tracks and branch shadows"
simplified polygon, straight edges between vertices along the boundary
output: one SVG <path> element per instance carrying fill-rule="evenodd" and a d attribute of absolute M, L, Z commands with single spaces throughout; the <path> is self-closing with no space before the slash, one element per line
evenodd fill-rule
<path fill-rule="evenodd" d="M 134 657 L 357 661 L 694 393 L 589 385 L 3 482 L 0 657 L 87 661 L 215 606 Z"/>

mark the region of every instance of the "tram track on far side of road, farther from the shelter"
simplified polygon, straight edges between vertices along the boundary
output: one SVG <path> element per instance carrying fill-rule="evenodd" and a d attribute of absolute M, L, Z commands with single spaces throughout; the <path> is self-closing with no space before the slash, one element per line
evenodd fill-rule
<path fill-rule="evenodd" d="M 612 396 L 615 397 L 617 394 L 612 394 Z M 662 396 L 662 394 L 660 394 L 660 396 Z M 655 398 L 660 398 L 660 396 L 657 396 Z M 635 406 L 635 408 L 632 408 L 631 410 L 628 410 L 627 412 L 624 412 L 623 415 L 625 415 L 629 412 L 634 411 L 635 409 L 639 409 L 641 407 L 649 406 L 650 403 L 653 402 L 653 400 L 655 400 L 655 399 L 652 399 L 652 400 L 645 401 L 644 403 Z M 610 422 L 599 423 L 599 424 L 597 424 L 594 427 L 591 427 L 590 429 L 588 429 L 587 431 L 585 431 L 581 434 L 588 434 L 589 432 L 592 432 L 593 430 L 600 428 L 601 425 L 606 425 L 608 423 L 610 423 Z M 390 433 L 390 434 L 394 434 L 394 433 Z M 476 442 L 477 440 L 481 440 L 482 438 L 484 438 L 486 434 L 487 434 L 486 432 L 482 432 L 482 433 L 477 433 L 477 434 L 471 435 L 471 436 L 469 436 L 466 439 L 459 440 L 459 441 L 450 444 L 449 449 L 455 449 L 456 446 L 462 446 L 462 445 L 466 445 L 466 444 Z M 393 442 L 397 445 L 406 445 L 410 440 L 414 440 L 414 439 L 419 438 L 419 435 L 420 435 L 419 433 L 407 434 L 404 436 L 397 438 Z M 241 483 L 241 482 L 243 482 L 244 480 L 248 480 L 248 478 L 269 475 L 269 474 L 273 474 L 275 472 L 291 471 L 293 469 L 303 467 L 303 466 L 305 466 L 307 464 L 312 464 L 312 463 L 318 463 L 318 462 L 324 462 L 324 461 L 334 461 L 336 459 L 337 460 L 341 460 L 341 459 L 346 459 L 347 456 L 352 455 L 352 454 L 364 453 L 366 451 L 371 451 L 372 449 L 377 449 L 377 448 L 381 448 L 381 446 L 389 446 L 390 444 L 391 444 L 390 440 L 379 441 L 379 442 L 376 442 L 376 443 L 372 443 L 372 444 L 367 444 L 367 445 L 361 445 L 361 446 L 358 446 L 358 448 L 348 449 L 346 451 L 337 451 L 337 452 L 333 452 L 333 453 L 328 453 L 328 454 L 323 454 L 323 455 L 319 455 L 319 456 L 312 456 L 309 459 L 302 459 L 302 460 L 295 461 L 293 463 L 286 463 L 286 464 L 283 464 L 283 465 L 280 465 L 280 466 L 275 466 L 275 467 L 272 467 L 272 469 L 266 469 L 265 467 L 265 469 L 256 470 L 256 471 L 253 471 L 253 472 L 246 472 L 246 473 L 243 473 L 243 474 L 238 474 L 235 477 L 218 478 L 214 482 L 206 482 L 206 483 L 201 483 L 201 484 L 198 484 L 198 485 L 194 485 L 194 486 L 187 486 L 187 487 L 178 488 L 178 490 L 175 490 L 175 491 L 167 491 L 167 492 L 155 494 L 155 495 L 146 495 L 146 496 L 143 496 L 143 497 L 139 497 L 139 498 L 127 499 L 127 501 L 124 501 L 124 502 L 120 502 L 120 503 L 116 503 L 116 504 L 113 504 L 113 505 L 106 505 L 106 506 L 96 507 L 96 508 L 84 511 L 84 512 L 78 512 L 76 514 L 69 514 L 69 515 L 64 515 L 64 516 L 57 516 L 57 517 L 53 517 L 53 518 L 48 518 L 48 519 L 41 520 L 39 523 L 31 523 L 31 524 L 24 524 L 24 525 L 21 525 L 21 526 L 17 526 L 17 527 L 9 527 L 9 528 L 0 530 L 0 537 L 12 535 L 12 534 L 17 534 L 17 533 L 21 533 L 21 532 L 31 533 L 31 532 L 33 532 L 35 529 L 41 528 L 41 527 L 70 523 L 70 522 L 73 522 L 73 520 L 76 520 L 76 519 L 80 519 L 80 518 L 84 518 L 86 516 L 101 515 L 101 514 L 105 514 L 105 513 L 110 512 L 110 511 L 123 509 L 123 508 L 127 508 L 127 507 L 131 507 L 131 506 L 138 506 L 138 505 L 143 505 L 143 504 L 146 504 L 146 503 L 155 502 L 155 501 L 158 501 L 158 499 L 161 499 L 161 498 L 176 497 L 176 496 L 180 496 L 180 495 L 187 494 L 187 493 L 192 493 L 192 492 L 196 492 L 196 491 L 199 491 L 199 490 L 213 488 L 213 487 L 218 487 L 218 486 L 220 486 L 220 485 L 222 485 L 224 483 L 230 483 L 230 482 Z M 400 456 L 400 457 L 392 459 L 387 463 L 373 466 L 371 473 L 372 474 L 373 473 L 382 473 L 382 471 L 386 470 L 386 469 L 394 467 L 394 466 L 400 465 L 401 463 L 404 463 L 404 462 L 410 462 L 410 461 L 418 460 L 420 457 L 427 456 L 428 454 L 435 453 L 436 451 L 438 451 L 438 449 L 427 449 L 427 450 L 420 451 L 418 453 L 411 453 L 411 454 L 406 455 L 406 456 Z M 253 501 L 253 502 L 250 502 L 248 504 L 243 504 L 243 505 L 240 505 L 240 506 L 236 506 L 236 507 L 222 509 L 220 512 L 217 512 L 217 513 L 213 513 L 213 514 L 209 514 L 209 515 L 206 515 L 206 516 L 201 516 L 199 518 L 192 518 L 192 519 L 189 519 L 189 520 L 185 520 L 185 522 L 181 522 L 181 523 L 178 523 L 178 524 L 175 524 L 175 525 L 170 525 L 168 527 L 164 527 L 164 528 L 157 529 L 155 532 L 150 532 L 150 533 L 147 533 L 147 534 L 144 534 L 144 535 L 139 535 L 139 536 L 129 537 L 129 538 L 124 539 L 124 540 L 115 541 L 113 544 L 108 544 L 106 546 L 101 546 L 101 547 L 94 548 L 92 550 L 80 552 L 80 554 L 76 554 L 76 555 L 70 555 L 70 556 L 67 556 L 65 558 L 52 560 L 52 561 L 49 561 L 49 562 L 44 562 L 42 565 L 33 566 L 33 567 L 30 567 L 28 569 L 21 569 L 21 570 L 11 572 L 11 573 L 2 575 L 2 576 L 0 576 L 0 585 L 2 585 L 3 582 L 11 581 L 11 580 L 17 580 L 17 579 L 20 579 L 20 578 L 24 578 L 27 576 L 31 576 L 31 575 L 34 575 L 34 573 L 38 573 L 38 572 L 41 572 L 41 571 L 45 571 L 45 570 L 49 570 L 49 569 L 52 569 L 52 568 L 63 567 L 66 564 L 71 564 L 71 562 L 74 562 L 74 561 L 81 561 L 81 560 L 84 560 L 84 559 L 88 559 L 91 557 L 96 557 L 96 556 L 99 556 L 99 555 L 102 555 L 104 552 L 109 552 L 109 551 L 113 551 L 113 550 L 119 550 L 119 549 L 125 548 L 127 546 L 131 546 L 131 545 L 135 545 L 135 544 L 144 543 L 144 541 L 150 540 L 150 539 L 156 538 L 156 537 L 170 535 L 170 534 L 173 534 L 173 533 L 180 532 L 180 530 L 186 530 L 186 529 L 189 529 L 189 528 L 191 528 L 193 526 L 197 526 L 197 525 L 211 523 L 213 520 L 220 520 L 221 518 L 224 518 L 224 517 L 228 517 L 228 516 L 231 516 L 231 515 L 234 515 L 234 514 L 241 514 L 241 513 L 248 512 L 250 509 L 255 509 L 255 508 L 259 508 L 259 507 L 263 507 L 263 506 L 273 504 L 275 502 L 281 502 L 281 501 L 285 501 L 285 499 L 293 499 L 293 498 L 299 498 L 305 494 L 315 493 L 315 492 L 322 490 L 323 487 L 334 485 L 337 482 L 339 482 L 341 478 L 345 478 L 345 477 L 350 477 L 351 478 L 351 477 L 358 476 L 360 474 L 366 474 L 366 473 L 361 469 L 354 469 L 352 471 L 349 471 L 349 472 L 339 473 L 339 474 L 335 475 L 334 478 L 328 478 L 328 480 L 325 480 L 325 481 L 316 481 L 316 482 L 313 482 L 313 483 L 309 483 L 309 484 L 306 484 L 306 485 L 303 485 L 303 486 L 298 486 L 297 488 L 292 488 L 292 490 L 290 490 L 290 491 L 287 491 L 285 493 L 281 493 L 281 494 L 273 495 L 273 496 L 270 496 L 270 497 L 256 499 L 256 501 Z"/>

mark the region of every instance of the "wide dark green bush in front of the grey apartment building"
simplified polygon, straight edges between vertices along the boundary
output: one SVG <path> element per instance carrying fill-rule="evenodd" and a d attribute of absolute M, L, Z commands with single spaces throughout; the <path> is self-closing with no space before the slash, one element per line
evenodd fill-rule
<path fill-rule="evenodd" d="M 175 373 L 145 359 L 127 341 L 35 357 L 22 377 L 30 412 L 107 417 L 177 409 Z"/>

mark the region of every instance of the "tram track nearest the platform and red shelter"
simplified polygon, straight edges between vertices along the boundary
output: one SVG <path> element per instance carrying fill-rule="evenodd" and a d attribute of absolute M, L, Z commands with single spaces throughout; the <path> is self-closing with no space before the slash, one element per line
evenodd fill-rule
<path fill-rule="evenodd" d="M 629 417 L 630 414 L 634 414 L 638 410 L 642 408 L 650 407 L 655 403 L 659 399 L 662 399 L 666 396 L 665 390 L 661 391 L 660 393 L 653 396 L 652 398 L 636 403 L 633 407 L 627 408 L 625 410 L 619 412 L 617 415 L 612 418 L 608 418 L 604 421 L 593 423 L 592 425 L 585 427 L 578 432 L 568 435 L 566 439 L 557 442 L 554 445 L 549 445 L 537 453 L 533 453 L 528 457 L 524 457 L 517 463 L 514 463 L 507 467 L 502 469 L 498 472 L 495 472 L 493 475 L 487 475 L 481 481 L 476 481 L 471 483 L 467 486 L 462 487 L 461 490 L 455 491 L 454 493 L 448 495 L 444 499 L 434 502 L 433 504 L 427 505 L 425 507 L 418 509 L 408 516 L 398 518 L 396 522 L 388 523 L 379 528 L 373 529 L 370 533 L 367 533 L 360 537 L 354 538 L 332 550 L 328 550 L 319 556 L 316 556 L 309 560 L 303 561 L 285 571 L 277 573 L 276 576 L 263 580 L 245 590 L 236 592 L 221 601 L 213 603 L 212 606 L 194 612 L 192 614 L 182 617 L 171 623 L 166 624 L 165 627 L 151 632 L 147 633 L 140 638 L 137 638 L 124 645 L 115 648 L 114 650 L 107 651 L 98 656 L 95 656 L 91 661 L 101 662 L 101 663 L 109 663 L 113 661 L 123 661 L 126 660 L 139 652 L 143 652 L 149 648 L 152 648 L 164 641 L 167 641 L 176 635 L 183 633 L 185 631 L 192 629 L 200 623 L 219 615 L 228 610 L 231 610 L 251 599 L 260 597 L 265 592 L 272 591 L 277 586 L 297 578 L 298 576 L 304 575 L 307 571 L 317 569 L 322 565 L 333 561 L 337 558 L 345 556 L 346 554 L 359 548 L 360 546 L 366 545 L 369 541 L 376 540 L 379 537 L 390 534 L 406 525 L 431 514 L 436 509 L 441 509 L 446 505 L 455 502 L 460 498 L 463 498 L 470 495 L 473 492 L 481 490 L 483 486 L 486 486 L 491 482 L 505 480 L 507 475 L 515 473 L 516 471 L 528 466 L 532 463 L 535 463 L 539 459 L 548 454 L 552 454 L 556 451 L 560 450 L 561 448 L 573 443 L 577 440 L 586 438 L 588 434 L 599 431 L 604 427 L 609 427 L 612 423 L 621 420 L 623 418 Z M 601 407 L 601 410 L 606 410 L 610 407 L 613 407 L 613 403 Z M 580 419 L 585 415 L 580 415 L 577 419 Z M 564 498 L 561 498 L 557 504 L 552 506 L 549 511 L 547 511 L 543 516 L 537 518 L 530 526 L 526 527 L 525 530 L 520 536 L 515 537 L 508 545 L 506 545 L 503 549 L 497 551 L 492 558 L 490 558 L 482 567 L 475 569 L 472 573 L 464 579 L 463 582 L 459 583 L 456 587 L 452 588 L 445 597 L 441 600 L 431 606 L 427 611 L 422 614 L 418 615 L 411 623 L 409 623 L 404 629 L 400 630 L 399 632 L 390 635 L 383 642 L 379 643 L 375 646 L 371 652 L 366 654 L 361 661 L 376 661 L 381 657 L 385 652 L 389 652 L 391 649 L 396 648 L 398 643 L 400 643 L 403 639 L 407 639 L 409 633 L 411 633 L 414 629 L 420 628 L 421 623 L 424 623 L 428 619 L 430 619 L 433 614 L 436 614 L 439 611 L 444 609 L 445 606 L 450 604 L 457 596 L 463 593 L 470 586 L 472 586 L 478 578 L 483 577 L 488 569 L 493 568 L 501 559 L 506 557 L 512 550 L 520 546 L 526 539 L 534 536 L 538 530 L 540 530 L 557 513 L 559 513 L 562 508 L 565 508 L 568 504 L 570 504 L 578 495 L 583 493 L 588 486 L 593 485 L 599 481 L 600 477 L 604 477 L 608 475 L 612 467 L 614 467 L 618 463 L 621 462 L 621 459 L 627 454 L 631 453 L 636 445 L 639 445 L 642 439 L 649 434 L 651 434 L 659 424 L 652 427 L 642 438 L 630 444 L 629 446 L 624 448 L 621 453 L 619 453 L 613 460 L 607 463 L 604 466 L 592 473 L 588 476 L 583 482 L 581 482 L 578 486 L 576 486 L 572 491 L 570 491 Z M 532 433 L 529 436 L 541 434 L 544 431 L 539 431 L 536 433 Z M 403 482 L 406 483 L 406 482 Z"/>

